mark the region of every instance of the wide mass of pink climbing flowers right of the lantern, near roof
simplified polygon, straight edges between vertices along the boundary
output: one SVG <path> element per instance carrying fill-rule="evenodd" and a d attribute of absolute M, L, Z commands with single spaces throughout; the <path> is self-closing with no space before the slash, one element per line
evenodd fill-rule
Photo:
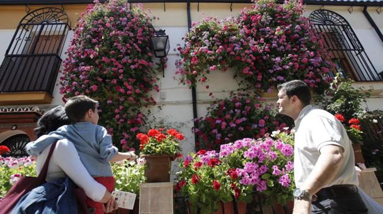
<path fill-rule="evenodd" d="M 323 93 L 332 63 L 324 40 L 302 13 L 302 4 L 294 0 L 258 0 L 235 20 L 206 18 L 193 23 L 185 44 L 177 47 L 176 77 L 194 86 L 206 82 L 206 74 L 232 67 L 235 76 L 245 78 L 244 87 L 258 93 L 293 79 Z"/>

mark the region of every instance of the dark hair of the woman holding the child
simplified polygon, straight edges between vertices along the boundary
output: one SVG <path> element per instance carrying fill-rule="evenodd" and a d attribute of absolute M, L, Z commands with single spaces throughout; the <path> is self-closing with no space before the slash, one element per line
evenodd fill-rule
<path fill-rule="evenodd" d="M 40 137 L 70 123 L 70 119 L 65 114 L 64 106 L 56 106 L 41 116 L 37 121 L 37 127 L 33 131 L 36 137 Z"/>

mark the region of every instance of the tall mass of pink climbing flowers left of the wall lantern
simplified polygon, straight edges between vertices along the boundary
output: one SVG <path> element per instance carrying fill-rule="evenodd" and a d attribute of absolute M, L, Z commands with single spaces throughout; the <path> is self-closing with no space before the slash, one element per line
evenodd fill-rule
<path fill-rule="evenodd" d="M 100 125 L 124 149 L 138 148 L 143 108 L 154 105 L 149 94 L 159 69 L 152 61 L 154 27 L 142 5 L 124 0 L 89 5 L 77 24 L 63 62 L 60 93 L 99 101 Z"/>

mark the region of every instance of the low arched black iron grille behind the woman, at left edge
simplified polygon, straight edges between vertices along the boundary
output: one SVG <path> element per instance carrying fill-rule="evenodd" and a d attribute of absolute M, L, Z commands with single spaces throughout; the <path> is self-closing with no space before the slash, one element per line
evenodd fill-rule
<path fill-rule="evenodd" d="M 31 140 L 26 134 L 16 134 L 15 136 L 9 137 L 3 141 L 1 145 L 6 145 L 10 152 L 2 155 L 3 157 L 24 157 L 28 156 L 25 151 L 25 145 Z"/>

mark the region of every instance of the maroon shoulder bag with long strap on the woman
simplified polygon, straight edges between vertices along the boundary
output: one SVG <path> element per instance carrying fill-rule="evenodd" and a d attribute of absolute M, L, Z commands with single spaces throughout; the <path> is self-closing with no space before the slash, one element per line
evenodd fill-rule
<path fill-rule="evenodd" d="M 46 182 L 45 178 L 48 171 L 49 160 L 51 159 L 53 150 L 56 147 L 56 143 L 57 142 L 54 142 L 52 144 L 51 149 L 49 150 L 49 154 L 45 160 L 43 169 L 41 170 L 38 177 L 23 176 L 19 178 L 19 180 L 17 180 L 16 183 L 11 187 L 2 201 L 0 201 L 0 214 L 10 213 L 21 197 L 23 197 L 32 189 Z"/>

